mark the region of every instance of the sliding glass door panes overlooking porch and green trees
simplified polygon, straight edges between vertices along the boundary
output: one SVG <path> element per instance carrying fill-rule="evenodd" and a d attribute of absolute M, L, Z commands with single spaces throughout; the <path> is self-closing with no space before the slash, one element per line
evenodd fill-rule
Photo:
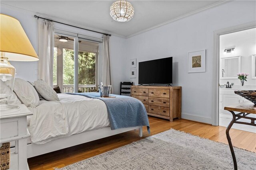
<path fill-rule="evenodd" d="M 68 41 L 60 41 L 60 38 Z M 78 65 L 75 66 L 74 38 L 55 35 L 53 59 L 53 85 L 60 86 L 62 92 L 75 92 L 78 80 L 78 92 L 88 92 L 97 85 L 98 43 L 78 41 Z M 75 71 L 78 71 L 75 77 Z"/>

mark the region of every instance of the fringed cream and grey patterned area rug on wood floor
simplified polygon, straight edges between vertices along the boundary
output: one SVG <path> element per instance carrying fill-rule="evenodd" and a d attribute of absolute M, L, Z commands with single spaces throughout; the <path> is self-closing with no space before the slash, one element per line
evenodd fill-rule
<path fill-rule="evenodd" d="M 255 170 L 256 154 L 234 148 L 239 170 Z M 232 170 L 229 146 L 174 129 L 55 170 Z"/>

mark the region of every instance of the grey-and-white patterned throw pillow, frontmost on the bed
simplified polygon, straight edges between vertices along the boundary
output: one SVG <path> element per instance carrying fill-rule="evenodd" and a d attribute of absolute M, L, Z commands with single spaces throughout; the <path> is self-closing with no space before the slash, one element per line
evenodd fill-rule
<path fill-rule="evenodd" d="M 36 91 L 38 91 L 45 100 L 60 101 L 57 93 L 44 80 L 35 81 Z"/>

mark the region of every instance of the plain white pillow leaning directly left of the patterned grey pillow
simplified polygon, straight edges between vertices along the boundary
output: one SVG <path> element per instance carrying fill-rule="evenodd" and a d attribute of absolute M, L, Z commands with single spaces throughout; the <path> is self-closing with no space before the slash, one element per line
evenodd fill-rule
<path fill-rule="evenodd" d="M 21 78 L 15 78 L 13 91 L 16 93 L 20 102 L 27 107 L 36 107 L 40 105 L 39 97 L 34 87 Z"/>

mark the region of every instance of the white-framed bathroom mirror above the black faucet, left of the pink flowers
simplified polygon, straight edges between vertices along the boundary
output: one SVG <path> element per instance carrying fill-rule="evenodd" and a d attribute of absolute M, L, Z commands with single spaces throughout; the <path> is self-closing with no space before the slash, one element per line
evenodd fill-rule
<path fill-rule="evenodd" d="M 220 59 L 220 78 L 237 78 L 241 72 L 241 56 L 225 57 Z"/>

